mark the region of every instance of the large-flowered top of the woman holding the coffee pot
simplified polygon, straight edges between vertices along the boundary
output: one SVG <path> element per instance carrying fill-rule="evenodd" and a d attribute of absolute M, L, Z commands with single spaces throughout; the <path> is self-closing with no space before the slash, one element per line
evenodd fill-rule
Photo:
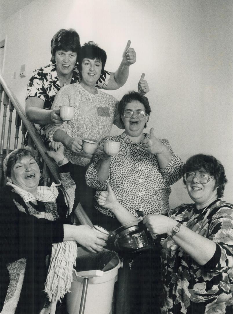
<path fill-rule="evenodd" d="M 233 313 L 233 205 L 220 199 L 207 208 L 182 204 L 169 213 L 217 248 L 200 266 L 168 236 L 161 242 L 162 314 Z"/>

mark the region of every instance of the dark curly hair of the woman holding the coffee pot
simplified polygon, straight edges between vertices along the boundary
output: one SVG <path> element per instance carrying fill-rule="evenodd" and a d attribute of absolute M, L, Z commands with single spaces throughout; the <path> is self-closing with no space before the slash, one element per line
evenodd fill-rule
<path fill-rule="evenodd" d="M 194 171 L 200 170 L 201 168 L 203 168 L 206 172 L 208 172 L 210 176 L 214 176 L 216 180 L 215 187 L 217 187 L 218 197 L 219 198 L 223 197 L 227 179 L 225 176 L 225 170 L 224 170 L 223 165 L 214 156 L 197 154 L 190 157 L 186 161 L 183 168 L 184 184 L 186 183 L 184 180 L 185 172 L 190 172 L 190 171 L 194 172 Z"/>

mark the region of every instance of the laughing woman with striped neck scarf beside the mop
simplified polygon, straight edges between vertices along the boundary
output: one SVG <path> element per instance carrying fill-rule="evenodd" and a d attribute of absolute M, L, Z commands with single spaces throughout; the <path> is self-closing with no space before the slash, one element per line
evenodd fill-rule
<path fill-rule="evenodd" d="M 51 145 L 56 152 L 49 151 L 48 154 L 57 163 L 60 161 L 63 186 L 38 187 L 39 166 L 29 146 L 14 150 L 3 162 L 7 185 L 1 189 L 0 195 L 1 313 L 50 313 L 51 303 L 44 293 L 44 283 L 52 247 L 58 245 L 60 249 L 56 253 L 59 254 L 66 245 L 63 241 L 69 241 L 67 245 L 73 247 L 74 256 L 75 241 L 92 252 L 101 252 L 106 245 L 107 237 L 100 232 L 87 225 L 70 225 L 67 218 L 77 205 L 74 198 L 77 187 L 67 173 L 72 165 L 65 158 L 61 143 Z M 72 254 L 68 263 L 72 262 L 71 257 Z M 64 269 L 64 264 L 62 267 Z M 58 294 L 60 288 L 71 282 L 66 274 Z"/>

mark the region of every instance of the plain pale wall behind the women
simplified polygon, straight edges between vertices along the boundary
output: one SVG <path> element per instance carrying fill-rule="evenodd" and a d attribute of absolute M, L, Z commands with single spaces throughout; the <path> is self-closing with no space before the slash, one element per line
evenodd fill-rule
<path fill-rule="evenodd" d="M 127 40 L 137 52 L 127 83 L 112 94 L 136 89 L 142 72 L 150 85 L 148 131 L 168 138 L 183 160 L 213 154 L 225 166 L 225 200 L 233 203 L 231 0 L 41 0 L 0 24 L 7 35 L 4 76 L 24 103 L 33 69 L 50 60 L 50 41 L 60 28 L 75 28 L 81 44 L 93 40 L 107 52 L 114 71 Z M 26 78 L 19 78 L 26 63 Z M 16 71 L 16 79 L 13 73 Z M 120 133 L 113 127 L 112 133 Z M 172 187 L 170 205 L 190 202 L 182 182 Z"/>

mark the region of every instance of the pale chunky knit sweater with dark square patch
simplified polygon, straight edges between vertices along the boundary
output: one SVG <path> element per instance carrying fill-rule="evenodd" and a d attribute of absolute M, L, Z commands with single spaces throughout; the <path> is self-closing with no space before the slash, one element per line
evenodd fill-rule
<path fill-rule="evenodd" d="M 123 128 L 118 113 L 118 101 L 99 89 L 93 95 L 79 83 L 67 85 L 58 92 L 51 109 L 60 106 L 75 107 L 75 115 L 72 121 L 64 122 L 61 126 L 48 126 L 47 136 L 50 141 L 54 140 L 55 131 L 63 130 L 72 138 L 78 136 L 100 142 L 109 135 L 113 123 Z M 81 166 L 88 165 L 92 158 L 92 155 L 83 151 L 74 153 L 68 147 L 65 147 L 64 154 L 73 164 Z"/>

